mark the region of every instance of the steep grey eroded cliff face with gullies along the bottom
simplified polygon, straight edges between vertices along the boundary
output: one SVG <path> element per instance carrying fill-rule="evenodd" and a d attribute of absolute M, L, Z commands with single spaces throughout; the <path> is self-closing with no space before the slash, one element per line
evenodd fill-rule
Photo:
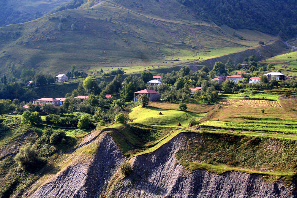
<path fill-rule="evenodd" d="M 28 197 L 297 197 L 281 182 L 265 183 L 257 175 L 206 170 L 190 172 L 175 160 L 175 153 L 185 149 L 178 134 L 157 151 L 130 159 L 133 172 L 115 183 L 119 165 L 126 157 L 108 134 L 94 141 L 99 149 L 88 161 L 79 160 L 61 170 Z M 119 177 L 118 177 L 119 178 Z"/>

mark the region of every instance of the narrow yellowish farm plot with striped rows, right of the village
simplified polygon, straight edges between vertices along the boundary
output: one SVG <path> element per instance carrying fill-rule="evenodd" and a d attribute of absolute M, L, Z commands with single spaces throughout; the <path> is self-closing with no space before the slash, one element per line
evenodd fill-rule
<path fill-rule="evenodd" d="M 236 100 L 236 99 L 226 99 L 221 102 L 223 107 L 282 107 L 279 101 L 269 101 L 269 100 Z"/>

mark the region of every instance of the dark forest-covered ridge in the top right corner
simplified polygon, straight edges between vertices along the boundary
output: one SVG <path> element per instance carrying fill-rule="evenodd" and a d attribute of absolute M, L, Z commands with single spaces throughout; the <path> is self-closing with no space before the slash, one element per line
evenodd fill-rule
<path fill-rule="evenodd" d="M 283 37 L 296 35 L 296 0 L 178 0 L 204 19 L 231 28 L 255 29 Z"/>

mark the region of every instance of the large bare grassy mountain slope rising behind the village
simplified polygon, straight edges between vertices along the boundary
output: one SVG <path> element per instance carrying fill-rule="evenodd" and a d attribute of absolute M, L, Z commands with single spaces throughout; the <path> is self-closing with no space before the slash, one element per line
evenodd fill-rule
<path fill-rule="evenodd" d="M 57 74 L 71 64 L 83 71 L 89 66 L 161 65 L 181 57 L 184 63 L 244 50 L 260 40 L 277 40 L 257 31 L 234 30 L 236 35 L 249 35 L 240 40 L 192 15 L 172 0 L 102 1 L 89 9 L 68 9 L 1 27 L 0 73 L 18 76 L 23 68 L 33 67 Z M 14 71 L 9 68 L 12 62 Z"/>

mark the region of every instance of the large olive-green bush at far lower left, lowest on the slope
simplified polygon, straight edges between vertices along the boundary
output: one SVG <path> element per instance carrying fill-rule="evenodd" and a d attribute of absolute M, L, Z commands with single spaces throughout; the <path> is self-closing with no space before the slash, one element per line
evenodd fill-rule
<path fill-rule="evenodd" d="M 31 143 L 27 143 L 20 147 L 19 153 L 15 156 L 15 161 L 23 170 L 28 170 L 38 166 L 45 160 L 37 156 L 36 149 Z"/>

